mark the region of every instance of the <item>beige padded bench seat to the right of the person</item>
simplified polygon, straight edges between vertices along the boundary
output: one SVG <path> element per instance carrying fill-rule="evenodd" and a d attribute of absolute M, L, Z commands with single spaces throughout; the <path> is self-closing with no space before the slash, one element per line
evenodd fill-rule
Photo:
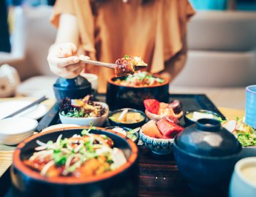
<path fill-rule="evenodd" d="M 256 84 L 255 34 L 255 12 L 197 12 L 186 66 L 170 91 L 206 93 L 217 106 L 244 109 L 244 88 Z"/>

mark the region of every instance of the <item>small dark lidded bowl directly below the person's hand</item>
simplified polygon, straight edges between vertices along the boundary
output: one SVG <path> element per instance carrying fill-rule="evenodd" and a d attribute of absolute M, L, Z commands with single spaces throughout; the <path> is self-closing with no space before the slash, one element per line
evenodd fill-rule
<path fill-rule="evenodd" d="M 78 76 L 73 79 L 59 77 L 53 85 L 57 101 L 68 97 L 69 99 L 83 99 L 91 94 L 91 83 L 86 78 Z"/>

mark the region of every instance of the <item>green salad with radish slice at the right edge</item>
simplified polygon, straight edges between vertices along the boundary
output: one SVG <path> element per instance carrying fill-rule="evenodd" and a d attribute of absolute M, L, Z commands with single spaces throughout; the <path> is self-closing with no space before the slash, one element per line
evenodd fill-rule
<path fill-rule="evenodd" d="M 244 123 L 244 118 L 222 120 L 222 126 L 232 132 L 243 147 L 256 146 L 256 130 Z"/>

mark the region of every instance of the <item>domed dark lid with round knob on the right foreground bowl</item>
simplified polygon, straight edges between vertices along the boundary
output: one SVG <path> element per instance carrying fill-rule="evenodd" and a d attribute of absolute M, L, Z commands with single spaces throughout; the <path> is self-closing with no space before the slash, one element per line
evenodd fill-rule
<path fill-rule="evenodd" d="M 236 137 L 221 126 L 219 120 L 200 119 L 176 137 L 182 150 L 203 156 L 228 156 L 241 151 Z"/>

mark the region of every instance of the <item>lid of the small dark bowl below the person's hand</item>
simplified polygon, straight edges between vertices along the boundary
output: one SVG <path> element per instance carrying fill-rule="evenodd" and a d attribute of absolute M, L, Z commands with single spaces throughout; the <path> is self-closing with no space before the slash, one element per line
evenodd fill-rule
<path fill-rule="evenodd" d="M 59 77 L 55 84 L 53 85 L 55 88 L 61 88 L 61 89 L 81 89 L 81 88 L 91 88 L 91 83 L 86 80 L 86 78 L 78 76 L 73 79 L 65 79 L 62 77 Z"/>

